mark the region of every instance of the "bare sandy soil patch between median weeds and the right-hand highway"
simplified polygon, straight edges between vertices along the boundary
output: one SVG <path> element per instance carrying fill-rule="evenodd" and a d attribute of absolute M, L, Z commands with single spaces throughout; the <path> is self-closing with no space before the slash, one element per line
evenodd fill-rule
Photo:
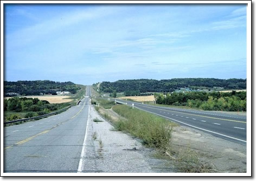
<path fill-rule="evenodd" d="M 190 127 L 177 126 L 173 130 L 171 145 L 174 151 L 190 147 L 198 154 L 201 161 L 213 164 L 219 172 L 246 172 L 246 145 Z"/>

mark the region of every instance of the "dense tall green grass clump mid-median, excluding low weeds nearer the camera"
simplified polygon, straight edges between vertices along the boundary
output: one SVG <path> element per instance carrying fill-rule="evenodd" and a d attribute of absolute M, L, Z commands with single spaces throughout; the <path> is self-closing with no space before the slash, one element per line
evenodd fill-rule
<path fill-rule="evenodd" d="M 117 130 L 127 131 L 142 139 L 146 146 L 163 150 L 169 148 L 172 130 L 169 121 L 126 105 L 116 105 L 112 109 L 127 119 L 114 122 L 114 127 Z"/>

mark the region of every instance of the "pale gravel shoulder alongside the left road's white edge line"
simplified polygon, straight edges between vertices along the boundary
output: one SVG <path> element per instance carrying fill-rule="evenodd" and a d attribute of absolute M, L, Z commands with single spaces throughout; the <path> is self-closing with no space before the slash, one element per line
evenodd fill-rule
<path fill-rule="evenodd" d="M 167 160 L 153 158 L 154 150 L 139 139 L 114 131 L 94 106 L 90 107 L 87 148 L 83 172 L 103 173 L 169 173 L 174 172 Z M 102 122 L 94 122 L 99 119 Z"/>

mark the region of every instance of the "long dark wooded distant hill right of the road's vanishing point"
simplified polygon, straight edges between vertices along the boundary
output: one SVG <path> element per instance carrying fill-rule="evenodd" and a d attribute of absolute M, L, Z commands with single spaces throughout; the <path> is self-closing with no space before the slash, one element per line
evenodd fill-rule
<path fill-rule="evenodd" d="M 169 80 L 137 79 L 137 80 L 118 80 L 116 82 L 102 82 L 101 92 L 124 92 L 127 90 L 137 90 L 144 92 L 172 92 L 181 87 L 189 88 L 214 88 L 223 89 L 246 89 L 246 79 L 203 79 L 185 78 Z"/>

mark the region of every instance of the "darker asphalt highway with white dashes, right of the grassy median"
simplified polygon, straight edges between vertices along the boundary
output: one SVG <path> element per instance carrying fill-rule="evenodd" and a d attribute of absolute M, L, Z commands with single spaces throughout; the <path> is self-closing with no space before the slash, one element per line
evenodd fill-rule
<path fill-rule="evenodd" d="M 196 128 L 217 137 L 246 145 L 246 116 L 197 111 L 192 109 L 152 106 L 116 99 L 119 104 L 147 111 L 163 118 L 178 122 L 178 124 Z"/>

